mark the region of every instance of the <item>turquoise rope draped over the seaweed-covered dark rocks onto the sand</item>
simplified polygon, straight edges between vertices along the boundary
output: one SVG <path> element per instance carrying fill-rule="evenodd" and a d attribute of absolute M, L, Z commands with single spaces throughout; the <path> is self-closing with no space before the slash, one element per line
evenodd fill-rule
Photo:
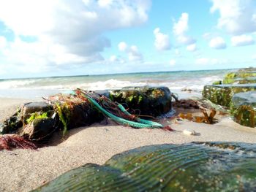
<path fill-rule="evenodd" d="M 132 126 L 134 128 L 163 128 L 163 126 L 159 123 L 153 122 L 151 120 L 143 120 L 140 118 L 136 118 L 136 120 L 138 122 L 132 121 L 132 120 L 126 120 L 124 118 L 120 118 L 116 115 L 113 115 L 112 113 L 108 112 L 107 110 L 105 110 L 103 107 L 101 107 L 97 101 L 95 101 L 92 96 L 90 96 L 89 93 L 86 93 L 86 91 L 82 91 L 79 90 L 81 93 L 80 95 L 85 97 L 86 99 L 88 99 L 91 104 L 94 105 L 94 107 L 97 108 L 97 110 L 99 110 L 100 112 L 102 112 L 104 115 L 108 116 L 108 118 L 116 121 L 117 123 L 121 123 L 124 126 Z M 124 107 L 121 104 L 118 104 L 118 108 L 124 112 L 125 115 L 129 115 L 131 116 L 131 114 L 129 112 L 127 112 L 127 110 L 124 109 Z"/>

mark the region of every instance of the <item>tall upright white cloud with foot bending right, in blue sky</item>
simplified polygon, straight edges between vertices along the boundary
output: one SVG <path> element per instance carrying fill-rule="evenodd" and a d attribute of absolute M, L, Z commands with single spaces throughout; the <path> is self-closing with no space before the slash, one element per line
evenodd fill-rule
<path fill-rule="evenodd" d="M 173 23 L 173 34 L 176 36 L 177 41 L 184 45 L 190 45 L 195 43 L 195 39 L 189 37 L 186 33 L 189 30 L 189 14 L 183 12 L 178 22 Z"/>

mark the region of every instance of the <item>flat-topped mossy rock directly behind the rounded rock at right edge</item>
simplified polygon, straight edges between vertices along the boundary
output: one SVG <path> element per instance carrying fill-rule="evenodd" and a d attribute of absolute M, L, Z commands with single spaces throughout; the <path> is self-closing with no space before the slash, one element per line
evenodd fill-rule
<path fill-rule="evenodd" d="M 206 85 L 203 88 L 203 97 L 215 104 L 230 107 L 233 95 L 246 91 L 256 91 L 256 84 Z"/>

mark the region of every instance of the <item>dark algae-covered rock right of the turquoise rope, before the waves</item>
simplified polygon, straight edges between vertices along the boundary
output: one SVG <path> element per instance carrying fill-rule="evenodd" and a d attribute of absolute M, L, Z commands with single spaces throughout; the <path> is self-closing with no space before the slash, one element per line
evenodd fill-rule
<path fill-rule="evenodd" d="M 110 99 L 127 104 L 129 112 L 157 116 L 171 110 L 171 95 L 167 87 L 126 87 L 110 91 Z"/>

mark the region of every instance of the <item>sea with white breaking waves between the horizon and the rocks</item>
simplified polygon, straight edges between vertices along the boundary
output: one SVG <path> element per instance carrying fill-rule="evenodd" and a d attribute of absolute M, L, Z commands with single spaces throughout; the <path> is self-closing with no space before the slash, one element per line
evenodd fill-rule
<path fill-rule="evenodd" d="M 224 75 L 230 71 L 233 70 L 145 72 L 0 80 L 0 97 L 36 99 L 55 93 L 68 93 L 75 88 L 96 91 L 151 85 L 167 86 L 171 92 L 177 93 L 179 98 L 187 98 L 200 96 L 204 85 L 211 85 L 216 80 L 222 80 Z M 191 93 L 181 91 L 183 89 L 192 91 Z"/>

